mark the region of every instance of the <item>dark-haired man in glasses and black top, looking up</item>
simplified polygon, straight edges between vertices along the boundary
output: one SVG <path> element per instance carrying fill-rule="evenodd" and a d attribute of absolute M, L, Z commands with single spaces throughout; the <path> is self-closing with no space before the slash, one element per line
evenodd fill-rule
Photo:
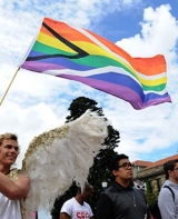
<path fill-rule="evenodd" d="M 147 218 L 145 193 L 130 183 L 134 172 L 128 156 L 116 155 L 111 160 L 110 170 L 115 181 L 100 195 L 96 219 Z"/>

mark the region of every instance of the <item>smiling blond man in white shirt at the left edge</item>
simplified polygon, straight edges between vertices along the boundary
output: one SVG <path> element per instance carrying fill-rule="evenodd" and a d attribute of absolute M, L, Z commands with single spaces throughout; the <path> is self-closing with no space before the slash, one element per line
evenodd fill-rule
<path fill-rule="evenodd" d="M 30 179 L 11 169 L 19 151 L 16 135 L 0 135 L 0 219 L 22 219 L 20 200 L 29 192 Z"/>

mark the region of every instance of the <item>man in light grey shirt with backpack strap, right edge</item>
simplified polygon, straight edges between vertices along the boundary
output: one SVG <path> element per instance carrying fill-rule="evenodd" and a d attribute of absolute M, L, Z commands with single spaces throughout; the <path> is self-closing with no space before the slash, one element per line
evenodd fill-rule
<path fill-rule="evenodd" d="M 178 159 L 169 160 L 164 165 L 166 175 L 165 185 L 170 187 L 161 188 L 158 197 L 158 206 L 162 219 L 178 219 Z"/>

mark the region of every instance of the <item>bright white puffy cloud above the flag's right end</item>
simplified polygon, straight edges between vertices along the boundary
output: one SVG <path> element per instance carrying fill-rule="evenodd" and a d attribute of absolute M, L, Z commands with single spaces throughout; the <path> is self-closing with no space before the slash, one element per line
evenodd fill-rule
<path fill-rule="evenodd" d="M 145 9 L 144 21 L 140 22 L 140 26 L 141 33 L 123 39 L 117 44 L 135 57 L 155 56 L 156 52 L 165 56 L 171 56 L 174 52 L 175 56 L 178 23 L 170 13 L 169 4 L 160 6 L 156 10 L 151 7 Z"/>

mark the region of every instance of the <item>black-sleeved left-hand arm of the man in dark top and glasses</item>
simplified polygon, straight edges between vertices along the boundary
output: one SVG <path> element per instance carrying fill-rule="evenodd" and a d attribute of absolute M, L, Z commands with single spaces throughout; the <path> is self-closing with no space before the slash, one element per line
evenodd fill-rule
<path fill-rule="evenodd" d="M 112 219 L 113 203 L 106 193 L 101 193 L 97 203 L 96 219 Z"/>

